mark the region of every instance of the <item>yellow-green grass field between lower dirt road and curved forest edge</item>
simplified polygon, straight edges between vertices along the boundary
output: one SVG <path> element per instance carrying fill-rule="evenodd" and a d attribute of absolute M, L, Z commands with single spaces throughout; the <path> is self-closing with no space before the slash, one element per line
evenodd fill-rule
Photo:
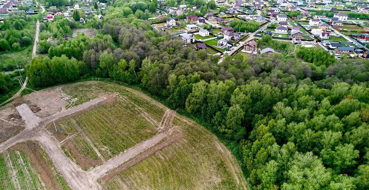
<path fill-rule="evenodd" d="M 175 117 L 172 127 L 172 137 L 183 137 L 108 179 L 103 187 L 248 189 L 237 160 L 214 135 L 181 115 Z"/>

